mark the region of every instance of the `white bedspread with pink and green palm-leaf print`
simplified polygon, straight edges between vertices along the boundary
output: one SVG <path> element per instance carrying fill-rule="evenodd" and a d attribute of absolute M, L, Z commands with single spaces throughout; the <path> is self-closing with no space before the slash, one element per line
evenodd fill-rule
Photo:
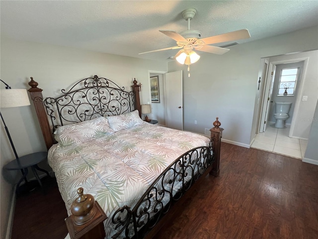
<path fill-rule="evenodd" d="M 48 161 L 68 214 L 82 187 L 104 209 L 106 235 L 113 235 L 111 217 L 119 207 L 133 208 L 169 164 L 209 141 L 203 135 L 143 123 L 80 144 L 55 144 Z"/>

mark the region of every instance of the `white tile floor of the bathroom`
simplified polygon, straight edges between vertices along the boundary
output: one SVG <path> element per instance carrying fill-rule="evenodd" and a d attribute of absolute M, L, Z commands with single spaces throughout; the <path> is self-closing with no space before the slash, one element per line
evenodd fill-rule
<path fill-rule="evenodd" d="M 266 131 L 258 133 L 251 148 L 258 148 L 278 154 L 302 159 L 305 155 L 308 140 L 288 137 L 290 125 L 285 128 L 267 126 Z"/>

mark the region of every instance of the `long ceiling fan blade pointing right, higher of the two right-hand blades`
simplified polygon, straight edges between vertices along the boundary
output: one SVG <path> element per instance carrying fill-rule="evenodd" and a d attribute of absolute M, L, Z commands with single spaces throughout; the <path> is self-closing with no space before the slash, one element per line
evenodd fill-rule
<path fill-rule="evenodd" d="M 224 33 L 221 35 L 216 36 L 210 36 L 203 39 L 199 39 L 200 41 L 204 41 L 205 44 L 210 45 L 214 43 L 219 42 L 225 42 L 225 41 L 234 41 L 234 40 L 240 40 L 240 39 L 247 39 L 249 38 L 249 32 L 247 29 L 241 29 L 238 31 L 231 31 L 228 33 Z"/>

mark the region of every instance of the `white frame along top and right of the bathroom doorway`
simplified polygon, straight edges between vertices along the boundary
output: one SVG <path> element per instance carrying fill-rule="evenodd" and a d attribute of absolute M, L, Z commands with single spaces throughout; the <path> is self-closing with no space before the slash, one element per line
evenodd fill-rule
<path fill-rule="evenodd" d="M 292 62 L 297 62 L 297 61 L 304 61 L 304 68 L 303 68 L 303 72 L 301 75 L 301 80 L 300 80 L 300 85 L 299 85 L 299 89 L 298 89 L 298 94 L 296 96 L 296 103 L 295 103 L 295 107 L 294 107 L 294 113 L 293 113 L 293 118 L 290 124 L 290 130 L 289 130 L 289 137 L 294 137 L 294 130 L 295 130 L 295 123 L 296 120 L 299 118 L 298 114 L 299 114 L 299 107 L 300 107 L 300 102 L 302 100 L 302 94 L 303 94 L 303 89 L 304 89 L 304 84 L 305 84 L 305 76 L 306 76 L 306 72 L 307 72 L 307 66 L 308 66 L 308 59 L 309 57 L 302 57 L 302 58 L 293 58 L 293 59 L 288 59 L 288 60 L 281 60 L 281 61 L 270 61 L 269 64 L 272 64 L 273 66 L 275 65 L 279 65 L 279 64 L 284 64 L 284 63 L 292 63 Z M 268 78 L 266 78 L 266 82 L 264 82 L 264 84 L 266 85 L 268 81 Z M 262 107 L 264 107 L 264 101 L 263 101 L 263 105 Z"/>

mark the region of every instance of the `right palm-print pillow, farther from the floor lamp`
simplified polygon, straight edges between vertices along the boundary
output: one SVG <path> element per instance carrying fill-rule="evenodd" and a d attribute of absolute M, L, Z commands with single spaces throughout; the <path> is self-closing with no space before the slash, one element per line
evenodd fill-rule
<path fill-rule="evenodd" d="M 145 121 L 140 119 L 138 110 L 119 116 L 108 116 L 107 119 L 111 129 L 116 132 L 124 128 L 145 123 Z"/>

